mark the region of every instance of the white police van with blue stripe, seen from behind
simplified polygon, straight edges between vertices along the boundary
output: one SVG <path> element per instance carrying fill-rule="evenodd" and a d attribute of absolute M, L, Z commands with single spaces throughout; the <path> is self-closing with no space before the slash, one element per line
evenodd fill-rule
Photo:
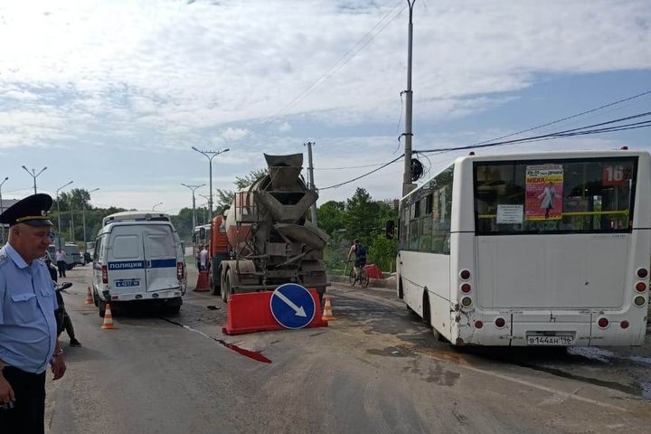
<path fill-rule="evenodd" d="M 104 218 L 93 252 L 92 297 L 104 316 L 127 302 L 156 302 L 176 313 L 187 276 L 184 251 L 169 215 L 117 212 Z"/>

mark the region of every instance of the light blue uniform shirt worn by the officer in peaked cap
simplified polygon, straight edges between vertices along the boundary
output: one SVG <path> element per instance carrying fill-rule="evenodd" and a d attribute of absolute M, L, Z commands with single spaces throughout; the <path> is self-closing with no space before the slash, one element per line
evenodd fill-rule
<path fill-rule="evenodd" d="M 0 249 L 0 359 L 27 373 L 42 373 L 54 354 L 58 307 L 50 273 L 32 266 L 7 243 Z"/>

